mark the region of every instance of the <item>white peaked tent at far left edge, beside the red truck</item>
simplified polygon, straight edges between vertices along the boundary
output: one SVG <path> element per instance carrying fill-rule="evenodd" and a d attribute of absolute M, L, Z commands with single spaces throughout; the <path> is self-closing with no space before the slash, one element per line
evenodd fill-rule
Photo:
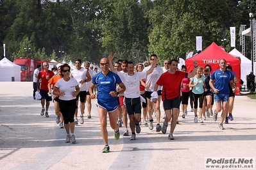
<path fill-rule="evenodd" d="M 7 58 L 0 61 L 0 81 L 21 81 L 21 66 Z"/>

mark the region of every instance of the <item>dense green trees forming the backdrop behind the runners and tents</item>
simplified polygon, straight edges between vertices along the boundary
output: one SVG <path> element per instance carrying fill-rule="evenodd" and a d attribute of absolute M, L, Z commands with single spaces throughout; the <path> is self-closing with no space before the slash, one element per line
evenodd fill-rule
<path fill-rule="evenodd" d="M 1 49 L 5 43 L 11 61 L 28 56 L 98 63 L 112 51 L 115 59 L 135 63 L 157 54 L 162 64 L 196 52 L 196 36 L 203 37 L 205 49 L 212 42 L 223 45 L 225 33 L 230 51 L 230 26 L 236 27 L 239 49 L 239 27 L 250 27 L 250 5 L 250 0 L 0 0 Z"/>

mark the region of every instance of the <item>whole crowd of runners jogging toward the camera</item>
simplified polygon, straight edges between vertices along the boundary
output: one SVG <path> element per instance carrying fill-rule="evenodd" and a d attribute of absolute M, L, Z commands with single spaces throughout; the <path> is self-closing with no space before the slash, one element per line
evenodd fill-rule
<path fill-rule="evenodd" d="M 103 153 L 110 151 L 107 114 L 116 140 L 120 136 L 119 127 L 124 127 L 123 135 L 130 135 L 130 140 L 135 140 L 136 134 L 141 132 L 141 125 L 148 126 L 150 130 L 155 127 L 156 132 L 163 134 L 170 125 L 168 139 L 175 139 L 173 132 L 179 123 L 179 114 L 181 112 L 180 117 L 185 119 L 189 101 L 194 123 L 203 123 L 210 116 L 217 121 L 221 112 L 218 126 L 223 130 L 223 123 L 233 120 L 237 76 L 225 59 L 219 61 L 218 70 L 212 70 L 210 65 L 198 66 L 198 62 L 193 61 L 194 68 L 189 73 L 185 65 L 178 68 L 176 59 L 165 60 L 163 68 L 158 66 L 155 54 L 144 63 L 126 59 L 118 59 L 114 63 L 113 59 L 110 52 L 108 58 L 100 60 L 101 72 L 95 72 L 89 61 L 82 66 L 81 59 L 74 61 L 74 70 L 67 64 L 58 64 L 54 73 L 49 70 L 47 62 L 43 64 L 42 71 L 35 70 L 33 96 L 35 99 L 35 91 L 40 91 L 40 115 L 49 117 L 48 109 L 53 100 L 56 123 L 67 133 L 66 143 L 76 143 L 75 125 L 84 123 L 85 108 L 87 118 L 92 117 L 91 100 L 94 98 L 97 98 L 101 135 L 105 143 Z M 216 109 L 213 111 L 214 101 Z M 162 117 L 161 109 L 164 110 Z M 164 120 L 162 125 L 161 118 Z"/>

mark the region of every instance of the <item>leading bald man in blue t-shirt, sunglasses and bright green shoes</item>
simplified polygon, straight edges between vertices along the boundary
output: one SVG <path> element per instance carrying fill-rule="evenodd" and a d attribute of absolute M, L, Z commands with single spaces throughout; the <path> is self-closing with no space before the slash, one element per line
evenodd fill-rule
<path fill-rule="evenodd" d="M 110 121 L 110 127 L 115 131 L 115 140 L 119 139 L 119 127 L 116 123 L 117 112 L 118 112 L 118 101 L 117 95 L 125 91 L 125 86 L 121 81 L 120 77 L 113 72 L 110 72 L 109 61 L 107 58 L 102 58 L 99 66 L 101 67 L 101 72 L 94 75 L 92 78 L 92 83 L 90 84 L 89 93 L 90 98 L 96 98 L 93 93 L 94 87 L 98 86 L 98 114 L 99 121 L 101 122 L 101 136 L 105 143 L 105 147 L 102 152 L 107 153 L 110 148 L 108 146 L 108 131 L 107 131 L 107 113 Z M 116 85 L 119 84 L 120 89 L 116 91 Z"/>

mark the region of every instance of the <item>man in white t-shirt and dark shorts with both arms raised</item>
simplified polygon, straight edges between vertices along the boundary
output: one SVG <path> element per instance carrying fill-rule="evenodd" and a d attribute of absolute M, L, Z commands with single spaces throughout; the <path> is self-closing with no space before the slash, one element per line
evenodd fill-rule
<path fill-rule="evenodd" d="M 149 73 L 153 72 L 157 63 L 152 63 L 152 67 L 147 72 L 134 72 L 134 64 L 132 61 L 127 63 L 127 73 L 117 72 L 112 65 L 112 59 L 114 56 L 112 52 L 108 56 L 110 63 L 110 69 L 112 72 L 117 73 L 121 80 L 123 81 L 126 91 L 124 91 L 124 102 L 126 109 L 130 118 L 130 128 L 132 131 L 132 136 L 130 140 L 135 140 L 135 127 L 137 134 L 141 133 L 141 127 L 139 123 L 141 122 L 141 93 L 140 93 L 140 82 L 141 79 L 145 79 Z"/>

